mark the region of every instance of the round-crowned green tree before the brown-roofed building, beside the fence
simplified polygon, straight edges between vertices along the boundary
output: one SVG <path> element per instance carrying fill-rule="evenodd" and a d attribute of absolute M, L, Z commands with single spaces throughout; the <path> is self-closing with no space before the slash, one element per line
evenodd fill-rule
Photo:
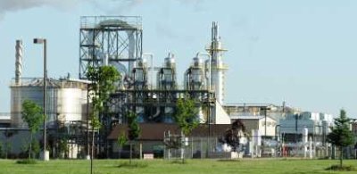
<path fill-rule="evenodd" d="M 188 95 L 187 98 L 179 98 L 176 107 L 173 116 L 175 122 L 181 129 L 181 159 L 182 163 L 184 163 L 184 138 L 189 136 L 192 130 L 199 124 L 199 119 L 197 118 L 198 109 L 195 107 L 195 100 L 191 99 Z"/>

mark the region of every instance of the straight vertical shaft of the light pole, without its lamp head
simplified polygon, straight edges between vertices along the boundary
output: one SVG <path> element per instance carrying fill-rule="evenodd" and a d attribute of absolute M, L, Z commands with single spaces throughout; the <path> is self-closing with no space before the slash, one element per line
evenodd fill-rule
<path fill-rule="evenodd" d="M 46 161 L 46 92 L 47 92 L 47 58 L 46 58 L 46 39 L 44 39 L 44 160 Z"/>

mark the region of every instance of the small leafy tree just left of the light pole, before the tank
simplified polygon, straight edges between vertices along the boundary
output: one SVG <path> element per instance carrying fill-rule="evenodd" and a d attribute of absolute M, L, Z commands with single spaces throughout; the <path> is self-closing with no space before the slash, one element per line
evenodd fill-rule
<path fill-rule="evenodd" d="M 29 159 L 31 159 L 32 153 L 32 138 L 33 135 L 39 130 L 40 125 L 44 119 L 44 115 L 42 114 L 43 110 L 40 106 L 35 104 L 30 100 L 25 100 L 22 103 L 22 120 L 28 123 L 29 126 Z"/>

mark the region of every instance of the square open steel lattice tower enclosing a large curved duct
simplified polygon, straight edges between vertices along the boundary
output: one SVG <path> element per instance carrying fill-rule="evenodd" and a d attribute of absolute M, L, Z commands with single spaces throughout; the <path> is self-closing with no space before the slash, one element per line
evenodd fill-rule
<path fill-rule="evenodd" d="M 79 29 L 79 79 L 89 66 L 112 65 L 130 75 L 142 56 L 143 29 L 139 16 L 83 16 Z M 128 62 L 128 64 L 123 64 Z"/>

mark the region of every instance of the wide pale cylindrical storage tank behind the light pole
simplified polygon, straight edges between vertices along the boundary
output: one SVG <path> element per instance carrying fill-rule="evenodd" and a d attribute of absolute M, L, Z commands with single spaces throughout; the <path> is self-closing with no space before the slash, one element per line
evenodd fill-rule
<path fill-rule="evenodd" d="M 48 127 L 55 121 L 62 123 L 87 119 L 87 82 L 71 79 L 47 79 L 46 114 Z M 28 99 L 43 107 L 43 79 L 21 79 L 21 84 L 12 82 L 11 117 L 12 127 L 26 128 L 21 118 L 24 100 Z"/>

